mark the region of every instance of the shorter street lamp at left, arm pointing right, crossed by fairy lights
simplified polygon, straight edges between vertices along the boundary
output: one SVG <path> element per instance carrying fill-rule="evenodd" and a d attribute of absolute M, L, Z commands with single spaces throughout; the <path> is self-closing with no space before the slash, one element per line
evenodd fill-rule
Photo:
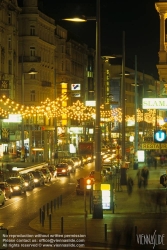
<path fill-rule="evenodd" d="M 34 69 L 31 68 L 28 72 L 24 72 L 23 68 L 23 59 L 22 59 L 22 77 L 21 77 L 21 95 L 22 95 L 22 105 L 24 106 L 24 75 L 25 74 L 29 75 L 35 75 L 38 74 L 38 72 Z M 30 135 L 29 135 L 30 136 Z M 30 145 L 29 145 L 29 156 L 30 156 Z M 24 148 L 24 117 L 22 115 L 22 123 L 21 123 L 21 160 L 25 161 L 25 148 Z"/>

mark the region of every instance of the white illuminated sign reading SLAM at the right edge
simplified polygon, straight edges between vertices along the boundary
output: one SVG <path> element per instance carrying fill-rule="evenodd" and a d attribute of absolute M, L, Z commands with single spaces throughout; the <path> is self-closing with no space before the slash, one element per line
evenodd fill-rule
<path fill-rule="evenodd" d="M 143 98 L 143 109 L 167 109 L 167 98 Z"/>

